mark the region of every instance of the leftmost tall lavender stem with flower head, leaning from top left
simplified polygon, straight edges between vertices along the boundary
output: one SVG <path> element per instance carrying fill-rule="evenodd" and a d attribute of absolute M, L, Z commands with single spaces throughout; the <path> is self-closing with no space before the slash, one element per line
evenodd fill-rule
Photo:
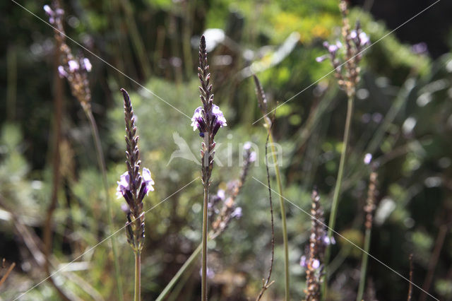
<path fill-rule="evenodd" d="M 109 187 L 107 181 L 107 168 L 105 165 L 105 158 L 102 152 L 102 146 L 100 143 L 99 131 L 97 124 L 91 110 L 91 90 L 88 81 L 88 72 L 91 71 L 92 65 L 90 60 L 82 55 L 76 57 L 72 54 L 71 48 L 66 44 L 66 34 L 64 32 L 63 17 L 64 11 L 59 6 L 59 1 L 52 1 L 52 7 L 44 5 L 45 13 L 49 17 L 49 23 L 54 27 L 54 39 L 57 41 L 57 47 L 59 47 L 60 65 L 58 66 L 58 73 L 61 78 L 66 78 L 71 87 L 72 95 L 80 102 L 83 111 L 85 112 L 88 121 L 90 122 L 91 132 L 93 134 L 93 140 L 95 143 L 95 150 L 97 155 L 97 163 L 99 164 L 100 171 L 102 172 L 102 182 L 105 189 L 105 203 L 107 205 L 107 223 L 110 233 L 113 231 L 112 221 L 112 206 L 109 198 Z M 51 204 L 51 206 L 54 206 Z M 50 218 L 50 217 L 49 217 Z M 48 232 L 48 231 L 44 231 Z M 44 234 L 44 237 L 49 237 L 48 234 Z M 114 236 L 110 237 L 112 242 L 112 252 L 114 259 L 114 276 L 117 282 L 118 298 L 123 300 L 121 275 L 119 271 L 119 259 L 117 254 L 117 243 Z"/>

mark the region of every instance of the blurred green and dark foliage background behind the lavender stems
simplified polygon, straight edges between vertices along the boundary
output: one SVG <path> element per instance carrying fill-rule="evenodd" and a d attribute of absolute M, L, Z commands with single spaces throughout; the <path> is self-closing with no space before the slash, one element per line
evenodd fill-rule
<path fill-rule="evenodd" d="M 452 23 L 448 1 L 440 1 L 388 35 L 434 1 L 355 1 L 350 21 L 360 20 L 375 43 L 364 55 L 357 89 L 350 152 L 336 229 L 362 246 L 364 201 L 371 153 L 381 162 L 379 196 L 370 253 L 441 300 L 452 300 Z M 19 1 L 46 20 L 44 1 Z M 311 189 L 331 206 L 345 122 L 346 95 L 338 89 L 324 54 L 324 40 L 340 38 L 338 1 L 62 1 L 67 35 L 98 57 L 68 41 L 93 64 L 89 74 L 93 113 L 107 158 L 110 197 L 126 170 L 124 114 L 119 88 L 131 94 L 137 116 L 143 166 L 150 168 L 155 191 L 145 209 L 146 245 L 142 258 L 143 300 L 154 300 L 201 242 L 201 181 L 174 194 L 200 175 L 195 163 L 169 162 L 174 133 L 198 156 L 201 140 L 190 119 L 198 98 L 197 45 L 206 31 L 215 103 L 228 126 L 216 136 L 218 158 L 213 188 L 224 188 L 239 175 L 245 141 L 259 146 L 237 200 L 243 217 L 210 244 L 210 300 L 252 300 L 261 288 L 270 259 L 270 213 L 264 143 L 266 129 L 258 110 L 251 72 L 256 72 L 275 113 L 275 138 L 283 149 L 284 195 L 309 211 Z M 42 228 L 52 191 L 52 141 L 56 64 L 53 30 L 13 1 L 0 4 L 0 257 L 17 266 L 0 287 L 11 300 L 45 278 Z M 212 30 L 212 29 L 218 30 Z M 381 39 L 381 40 L 380 40 Z M 119 69 L 119 71 L 115 69 Z M 124 74 L 127 76 L 124 76 Z M 141 83 L 137 85 L 135 82 Z M 320 81 L 319 78 L 321 78 Z M 313 84 L 314 83 L 314 84 Z M 143 88 L 145 87 L 145 88 Z M 61 185 L 54 212 L 55 262 L 66 264 L 106 237 L 106 208 L 93 138 L 85 114 L 64 82 Z M 158 95 L 158 98 L 149 91 Z M 302 91 L 302 93 L 299 93 Z M 252 177 L 256 177 L 253 179 Z M 274 184 L 273 184 L 274 185 Z M 174 194 L 173 196 L 171 196 Z M 168 199 L 167 197 L 170 196 Z M 274 196 L 276 197 L 276 196 Z M 114 228 L 125 215 L 122 199 L 112 200 Z M 290 240 L 291 300 L 304 297 L 299 258 L 309 240 L 310 218 L 287 203 Z M 275 284 L 266 300 L 282 300 L 283 248 L 275 202 Z M 133 296 L 133 252 L 124 231 L 117 234 L 126 300 Z M 334 271 L 328 280 L 331 300 L 355 300 L 361 252 L 336 237 Z M 40 251 L 41 249 L 41 251 Z M 76 264 L 75 264 L 76 263 Z M 117 300 L 109 242 L 99 244 L 55 281 L 74 300 Z M 199 263 L 168 300 L 196 300 Z M 1 274 L 5 269 L 1 269 Z M 367 290 L 378 300 L 405 300 L 408 282 L 369 259 Z M 413 288 L 413 298 L 422 298 Z M 59 300 L 44 282 L 20 300 Z"/>

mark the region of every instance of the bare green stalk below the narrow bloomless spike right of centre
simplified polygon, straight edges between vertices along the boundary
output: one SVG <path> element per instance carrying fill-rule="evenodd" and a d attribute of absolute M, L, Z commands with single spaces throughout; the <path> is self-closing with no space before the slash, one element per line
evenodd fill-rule
<path fill-rule="evenodd" d="M 270 131 L 270 124 L 268 125 L 268 135 L 270 140 L 270 147 L 273 155 L 273 164 L 275 164 L 276 182 L 278 183 L 278 196 L 280 198 L 281 208 L 281 223 L 283 223 L 283 243 L 284 243 L 284 275 L 285 275 L 285 300 L 290 299 L 289 293 L 289 244 L 287 242 L 287 224 L 285 221 L 285 205 L 283 200 L 283 185 L 281 184 L 280 168 L 278 166 L 278 159 L 276 158 L 275 143 L 273 143 L 273 134 Z"/>

